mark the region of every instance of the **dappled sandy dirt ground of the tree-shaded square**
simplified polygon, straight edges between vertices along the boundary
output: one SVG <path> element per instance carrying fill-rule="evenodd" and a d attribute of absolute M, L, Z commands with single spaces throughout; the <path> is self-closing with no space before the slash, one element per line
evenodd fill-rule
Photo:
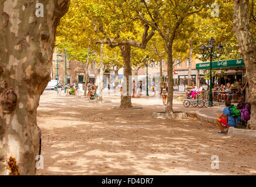
<path fill-rule="evenodd" d="M 44 169 L 37 175 L 256 175 L 256 141 L 220 135 L 213 124 L 153 119 L 160 99 L 132 99 L 143 109 L 43 93 L 37 112 Z M 219 169 L 212 169 L 212 155 Z M 214 165 L 214 164 L 212 164 Z"/>

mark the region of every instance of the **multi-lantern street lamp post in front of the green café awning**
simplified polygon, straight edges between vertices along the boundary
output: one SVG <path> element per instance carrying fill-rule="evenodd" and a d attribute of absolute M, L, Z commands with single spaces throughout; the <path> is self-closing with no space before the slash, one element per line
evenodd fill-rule
<path fill-rule="evenodd" d="M 207 47 L 205 45 L 200 47 L 200 51 L 202 53 L 202 58 L 207 58 L 207 54 L 209 54 L 209 57 L 210 57 L 210 90 L 209 90 L 210 106 L 213 105 L 213 98 L 212 98 L 212 58 L 213 58 L 213 56 L 215 56 L 216 58 L 220 58 L 220 56 L 222 55 L 223 50 L 224 50 L 222 44 L 219 44 L 219 46 L 217 47 L 217 51 L 216 51 L 217 53 L 214 53 L 213 52 L 213 47 L 214 46 L 215 46 L 215 39 L 213 37 L 211 37 Z"/>

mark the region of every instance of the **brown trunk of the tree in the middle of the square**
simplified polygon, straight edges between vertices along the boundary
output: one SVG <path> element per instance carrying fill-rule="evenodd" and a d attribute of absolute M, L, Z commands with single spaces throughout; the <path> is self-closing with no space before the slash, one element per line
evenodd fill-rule
<path fill-rule="evenodd" d="M 123 89 L 126 89 L 127 94 L 121 96 L 121 104 L 120 107 L 129 108 L 132 107 L 132 101 L 131 96 L 129 94 L 129 75 L 132 75 L 132 64 L 131 64 L 131 46 L 130 45 L 124 45 L 119 46 L 121 49 L 121 55 L 123 57 L 123 64 L 124 64 L 124 84 L 126 84 L 126 88 L 123 87 Z"/>

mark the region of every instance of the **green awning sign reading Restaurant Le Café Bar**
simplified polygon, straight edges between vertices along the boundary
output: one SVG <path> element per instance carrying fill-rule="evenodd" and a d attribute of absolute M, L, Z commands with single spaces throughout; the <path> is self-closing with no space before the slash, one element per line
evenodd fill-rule
<path fill-rule="evenodd" d="M 235 60 L 222 60 L 212 62 L 212 69 L 229 68 L 229 67 L 241 67 L 244 66 L 244 59 L 239 58 Z M 196 64 L 196 70 L 210 69 L 210 63 Z"/>

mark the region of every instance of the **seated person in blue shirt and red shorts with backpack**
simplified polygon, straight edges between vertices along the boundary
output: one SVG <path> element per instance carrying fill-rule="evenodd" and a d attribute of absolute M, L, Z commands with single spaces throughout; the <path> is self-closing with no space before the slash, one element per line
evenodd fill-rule
<path fill-rule="evenodd" d="M 225 108 L 222 110 L 222 113 L 217 115 L 216 117 L 216 122 L 220 127 L 220 132 L 218 132 L 219 134 L 226 134 L 227 131 L 229 130 L 229 127 L 234 127 L 236 126 L 235 123 L 235 117 L 232 117 L 229 111 L 229 106 L 231 106 L 231 102 L 230 101 L 225 101 Z M 224 119 L 224 115 L 227 116 L 227 119 Z M 224 126 L 222 125 L 224 124 Z M 227 127 L 227 130 L 225 131 L 224 128 Z"/>

